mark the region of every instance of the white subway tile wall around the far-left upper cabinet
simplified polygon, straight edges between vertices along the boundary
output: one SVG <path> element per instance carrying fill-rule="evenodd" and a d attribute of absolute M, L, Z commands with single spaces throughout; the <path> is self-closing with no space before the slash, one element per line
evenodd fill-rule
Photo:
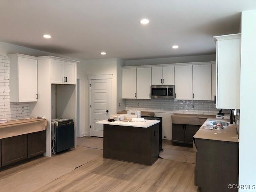
<path fill-rule="evenodd" d="M 14 120 L 29 117 L 28 103 L 10 103 L 9 59 L 0 56 L 0 119 Z"/>

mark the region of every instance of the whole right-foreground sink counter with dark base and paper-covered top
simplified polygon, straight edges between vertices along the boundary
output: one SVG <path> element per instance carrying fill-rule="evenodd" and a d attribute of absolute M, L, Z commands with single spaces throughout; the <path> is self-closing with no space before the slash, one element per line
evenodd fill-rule
<path fill-rule="evenodd" d="M 202 192 L 238 191 L 228 188 L 228 184 L 238 185 L 239 140 L 236 126 L 224 126 L 222 130 L 205 129 L 210 120 L 225 121 L 209 118 L 194 135 L 195 185 L 200 186 Z"/>

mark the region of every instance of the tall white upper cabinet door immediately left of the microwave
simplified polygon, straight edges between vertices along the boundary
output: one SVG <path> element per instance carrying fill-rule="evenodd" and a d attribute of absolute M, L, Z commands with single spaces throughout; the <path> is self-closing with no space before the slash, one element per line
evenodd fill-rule
<path fill-rule="evenodd" d="M 137 68 L 137 99 L 150 99 L 151 67 Z"/>

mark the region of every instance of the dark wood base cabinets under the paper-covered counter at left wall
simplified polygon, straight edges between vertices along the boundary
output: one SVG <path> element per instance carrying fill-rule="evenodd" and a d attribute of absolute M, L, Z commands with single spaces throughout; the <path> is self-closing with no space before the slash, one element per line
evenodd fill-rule
<path fill-rule="evenodd" d="M 46 130 L 1 139 L 0 165 L 10 166 L 46 152 Z"/>

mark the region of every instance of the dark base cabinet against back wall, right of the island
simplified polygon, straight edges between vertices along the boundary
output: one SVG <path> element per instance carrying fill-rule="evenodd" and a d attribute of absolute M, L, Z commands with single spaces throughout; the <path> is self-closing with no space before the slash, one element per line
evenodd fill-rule
<path fill-rule="evenodd" d="M 193 144 L 193 136 L 200 126 L 172 124 L 172 142 L 181 144 Z"/>

